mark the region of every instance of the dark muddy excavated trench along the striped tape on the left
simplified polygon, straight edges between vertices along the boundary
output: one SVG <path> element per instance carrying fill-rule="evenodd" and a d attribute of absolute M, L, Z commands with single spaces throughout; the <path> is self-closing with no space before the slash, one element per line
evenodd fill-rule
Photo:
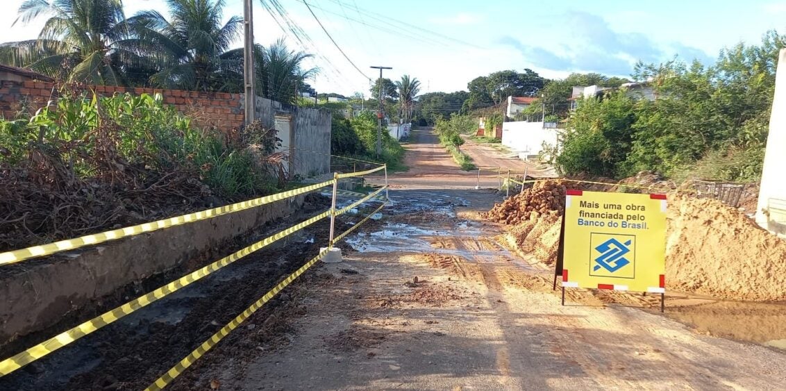
<path fill-rule="evenodd" d="M 329 199 L 307 197 L 300 212 L 285 219 L 278 219 L 217 252 L 226 255 L 237 251 L 294 223 L 317 215 L 325 208 L 329 208 Z M 338 232 L 351 227 L 342 220 L 337 221 Z M 262 297 L 277 282 L 316 256 L 320 247 L 328 242 L 328 232 L 329 219 L 322 219 L 13 374 L 0 378 L 0 389 L 143 389 Z M 337 246 L 349 250 L 346 245 Z M 195 256 L 171 271 L 116 290 L 95 301 L 94 305 L 72 312 L 46 330 L 5 345 L 2 356 L 11 356 L 214 260 L 206 256 Z M 296 280 L 295 283 L 299 282 Z M 222 342 L 232 346 L 232 349 L 241 349 L 242 346 L 253 343 L 249 348 L 253 350 L 256 345 L 281 338 L 288 330 L 286 319 L 298 315 L 299 311 L 291 297 L 287 293 L 281 293 L 249 319 L 248 324 L 244 324 L 258 331 L 250 341 L 244 341 L 237 346 L 233 343 L 233 340 L 238 342 L 237 337 L 230 334 Z M 195 366 L 210 361 L 210 356 L 206 355 Z M 187 371 L 174 382 L 172 388 L 192 389 L 189 383 L 193 381 L 190 378 L 192 375 L 193 371 Z"/>

